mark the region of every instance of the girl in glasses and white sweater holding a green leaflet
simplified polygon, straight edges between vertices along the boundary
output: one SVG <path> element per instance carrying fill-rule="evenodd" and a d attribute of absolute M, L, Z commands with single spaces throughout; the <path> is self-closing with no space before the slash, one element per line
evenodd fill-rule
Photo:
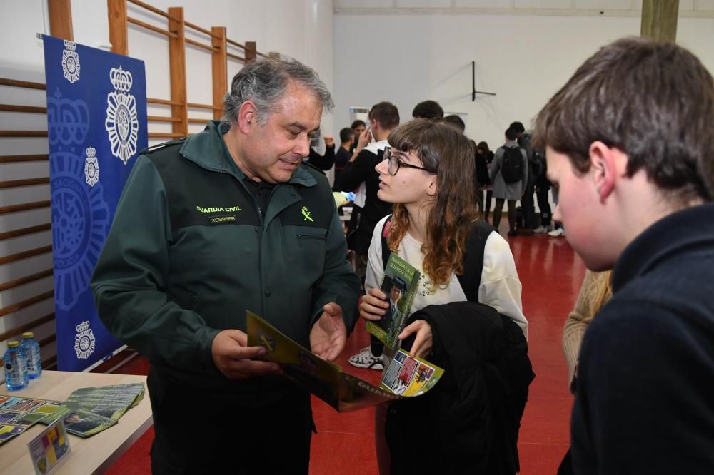
<path fill-rule="evenodd" d="M 393 203 L 387 243 L 393 252 L 415 267 L 421 277 L 411 312 L 427 305 L 466 301 L 457 273 L 463 273 L 466 237 L 478 220 L 473 190 L 473 148 L 466 136 L 443 123 L 423 119 L 403 124 L 388 137 L 390 153 L 376 165 L 378 198 Z M 382 230 L 376 226 L 368 251 L 366 295 L 360 305 L 365 320 L 380 320 L 389 307 L 379 290 L 384 275 Z M 523 315 L 521 281 L 508 242 L 498 233 L 488 235 L 478 301 L 511 318 L 528 337 Z M 411 354 L 428 357 L 431 327 L 424 320 L 408 325 L 399 335 L 416 333 Z M 386 365 L 385 365 L 386 366 Z M 376 411 L 376 446 L 381 473 L 388 473 L 389 454 L 383 439 L 386 406 Z"/>

